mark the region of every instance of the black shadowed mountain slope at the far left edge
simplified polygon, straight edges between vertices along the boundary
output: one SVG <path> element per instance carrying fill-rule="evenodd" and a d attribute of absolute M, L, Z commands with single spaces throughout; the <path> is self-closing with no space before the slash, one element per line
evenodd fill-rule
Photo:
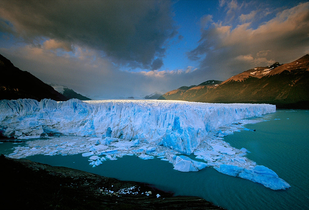
<path fill-rule="evenodd" d="M 10 60 L 0 55 L 0 100 L 31 98 L 40 101 L 50 98 L 56 101 L 66 101 L 53 87 L 45 84 L 27 71 L 15 67 Z"/>

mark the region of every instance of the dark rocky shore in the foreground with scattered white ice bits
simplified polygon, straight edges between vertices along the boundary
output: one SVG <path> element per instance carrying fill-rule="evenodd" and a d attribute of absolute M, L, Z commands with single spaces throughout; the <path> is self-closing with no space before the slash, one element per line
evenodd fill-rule
<path fill-rule="evenodd" d="M 198 197 L 173 196 L 144 183 L 4 155 L 0 167 L 1 209 L 223 209 Z"/>

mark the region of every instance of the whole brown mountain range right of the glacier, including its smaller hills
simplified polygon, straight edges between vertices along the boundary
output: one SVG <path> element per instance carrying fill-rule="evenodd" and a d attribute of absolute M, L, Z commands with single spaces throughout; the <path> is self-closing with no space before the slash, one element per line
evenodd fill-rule
<path fill-rule="evenodd" d="M 159 97 L 208 103 L 267 103 L 309 109 L 309 54 L 294 62 L 256 67 L 220 82 L 180 87 Z"/>

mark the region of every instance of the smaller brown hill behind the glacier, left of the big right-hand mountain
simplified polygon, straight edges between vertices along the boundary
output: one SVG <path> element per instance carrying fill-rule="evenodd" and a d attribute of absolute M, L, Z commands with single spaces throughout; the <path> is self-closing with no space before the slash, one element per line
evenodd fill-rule
<path fill-rule="evenodd" d="M 176 90 L 172 90 L 160 96 L 159 100 L 183 100 L 196 101 L 201 95 L 215 88 L 221 83 L 218 80 L 208 80 L 199 85 L 182 86 Z"/>

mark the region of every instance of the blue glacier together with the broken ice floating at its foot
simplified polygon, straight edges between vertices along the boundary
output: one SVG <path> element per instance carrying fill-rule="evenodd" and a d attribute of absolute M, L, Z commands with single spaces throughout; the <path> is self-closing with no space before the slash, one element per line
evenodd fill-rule
<path fill-rule="evenodd" d="M 93 167 L 124 155 L 157 157 L 179 171 L 213 167 L 271 189 L 290 187 L 271 169 L 244 157 L 246 149 L 233 148 L 222 139 L 244 129 L 243 119 L 275 112 L 275 105 L 18 99 L 1 100 L 0 111 L 3 136 L 40 138 L 15 147 L 10 157 L 82 153 Z M 197 160 L 184 156 L 189 154 Z M 262 172 L 260 167 L 265 167 Z"/>

